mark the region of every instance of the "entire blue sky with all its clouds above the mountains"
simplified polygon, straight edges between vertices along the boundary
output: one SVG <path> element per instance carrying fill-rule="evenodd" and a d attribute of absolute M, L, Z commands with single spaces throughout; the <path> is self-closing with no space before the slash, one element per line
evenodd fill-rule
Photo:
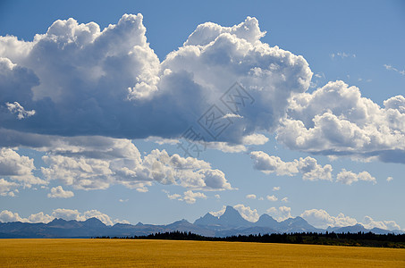
<path fill-rule="evenodd" d="M 3 1 L 0 221 L 235 205 L 403 230 L 404 25 L 401 1 Z M 254 102 L 230 113 L 235 82 Z M 212 105 L 232 120 L 216 139 Z M 179 147 L 190 126 L 200 155 Z"/>

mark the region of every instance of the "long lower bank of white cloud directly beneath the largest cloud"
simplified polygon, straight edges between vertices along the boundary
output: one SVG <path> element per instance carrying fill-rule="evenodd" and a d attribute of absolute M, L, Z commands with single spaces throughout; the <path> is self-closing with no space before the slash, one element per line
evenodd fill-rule
<path fill-rule="evenodd" d="M 141 155 L 126 138 L 101 136 L 61 137 L 4 130 L 4 140 L 14 146 L 30 147 L 42 156 L 45 164 L 36 167 L 34 160 L 20 155 L 15 148 L 0 147 L 0 196 L 14 196 L 18 188 L 47 185 L 53 180 L 74 189 L 105 189 L 120 184 L 139 192 L 160 183 L 204 191 L 230 190 L 224 172 L 203 160 L 169 155 L 152 150 Z M 16 134 L 15 136 L 13 134 Z M 21 136 L 19 136 L 21 134 Z M 22 142 L 21 142 L 22 141 Z M 43 179 L 34 175 L 40 171 Z M 2 178 L 3 177 L 3 178 Z M 48 197 L 73 197 L 62 186 L 51 189 Z"/>

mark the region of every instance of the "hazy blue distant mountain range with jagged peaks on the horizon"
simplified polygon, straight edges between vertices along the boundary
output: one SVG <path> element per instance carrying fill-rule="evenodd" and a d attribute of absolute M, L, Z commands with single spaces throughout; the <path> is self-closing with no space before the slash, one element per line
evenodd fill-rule
<path fill-rule="evenodd" d="M 257 222 L 249 222 L 240 216 L 236 209 L 228 205 L 224 214 L 220 217 L 215 217 L 208 213 L 200 217 L 194 223 L 181 220 L 167 225 L 143 224 L 139 222 L 136 225 L 116 223 L 114 226 L 108 226 L 96 218 L 90 218 L 85 222 L 65 221 L 63 219 L 55 219 L 48 223 L 3 222 L 0 223 L 0 239 L 90 238 L 100 236 L 125 237 L 173 230 L 190 231 L 207 237 L 227 237 L 258 233 L 326 231 L 315 228 L 301 217 L 277 222 L 268 214 L 263 214 Z M 327 231 L 334 231 L 336 233 L 359 231 L 372 231 L 376 234 L 403 233 L 401 230 L 390 231 L 378 228 L 367 230 L 360 224 L 342 228 L 329 227 Z"/>

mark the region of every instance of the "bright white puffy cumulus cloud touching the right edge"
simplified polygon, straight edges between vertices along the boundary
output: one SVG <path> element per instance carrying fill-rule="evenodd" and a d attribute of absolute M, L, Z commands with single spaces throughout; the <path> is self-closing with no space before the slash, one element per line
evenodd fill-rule
<path fill-rule="evenodd" d="M 380 107 L 359 88 L 329 82 L 291 99 L 277 140 L 313 154 L 404 163 L 405 98 L 393 96 Z"/>

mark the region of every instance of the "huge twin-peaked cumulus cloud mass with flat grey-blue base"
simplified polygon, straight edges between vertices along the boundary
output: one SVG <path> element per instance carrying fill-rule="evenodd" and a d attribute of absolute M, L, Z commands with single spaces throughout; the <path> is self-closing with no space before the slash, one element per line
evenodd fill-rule
<path fill-rule="evenodd" d="M 30 42 L 0 37 L 2 128 L 176 138 L 239 81 L 256 102 L 219 139 L 242 143 L 274 130 L 291 93 L 304 92 L 312 76 L 302 56 L 259 40 L 265 32 L 255 18 L 233 27 L 201 24 L 162 63 L 145 33 L 141 14 L 125 14 L 103 30 L 69 19 Z"/>

